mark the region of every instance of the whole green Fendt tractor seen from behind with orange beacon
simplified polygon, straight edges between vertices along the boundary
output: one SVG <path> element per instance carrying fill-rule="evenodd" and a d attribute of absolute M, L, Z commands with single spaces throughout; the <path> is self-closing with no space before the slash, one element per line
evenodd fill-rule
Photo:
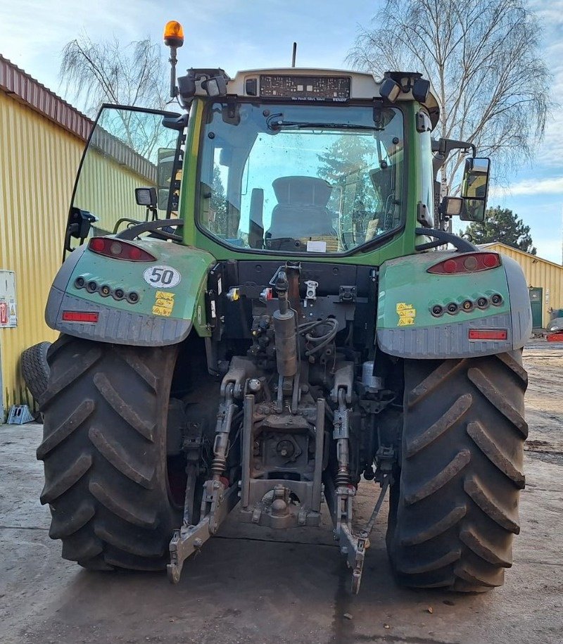
<path fill-rule="evenodd" d="M 410 72 L 191 69 L 182 113 L 105 105 L 46 321 L 42 503 L 63 557 L 167 568 L 239 505 L 270 529 L 322 504 L 358 592 L 386 491 L 405 586 L 483 591 L 512 565 L 524 487 L 519 266 L 482 221 L 488 159 L 432 139 Z M 467 153 L 461 196 L 436 173 Z M 354 521 L 360 480 L 374 511 Z M 378 487 L 379 485 L 379 487 Z"/>

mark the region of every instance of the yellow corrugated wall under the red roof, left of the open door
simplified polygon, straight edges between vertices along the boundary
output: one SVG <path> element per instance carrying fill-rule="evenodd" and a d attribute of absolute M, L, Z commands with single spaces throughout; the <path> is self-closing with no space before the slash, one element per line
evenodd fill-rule
<path fill-rule="evenodd" d="M 0 268 L 15 271 L 18 327 L 0 329 L 4 405 L 27 403 L 20 353 L 56 333 L 44 322 L 84 141 L 0 91 Z M 31 400 L 30 400 L 31 402 Z"/>

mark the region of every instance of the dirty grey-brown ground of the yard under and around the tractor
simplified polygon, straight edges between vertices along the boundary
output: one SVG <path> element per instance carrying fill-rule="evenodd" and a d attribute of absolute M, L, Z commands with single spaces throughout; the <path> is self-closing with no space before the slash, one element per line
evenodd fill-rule
<path fill-rule="evenodd" d="M 360 595 L 322 529 L 275 534 L 238 522 L 164 574 L 86 572 L 60 557 L 39 505 L 41 427 L 0 427 L 0 642 L 194 644 L 561 644 L 563 642 L 563 343 L 525 352 L 530 438 L 514 567 L 491 593 L 398 588 L 384 548 L 385 514 L 367 553 Z M 363 484 L 366 517 L 373 484 Z M 327 512 L 325 512 L 327 514 Z M 272 543 L 273 539 L 282 543 Z"/>

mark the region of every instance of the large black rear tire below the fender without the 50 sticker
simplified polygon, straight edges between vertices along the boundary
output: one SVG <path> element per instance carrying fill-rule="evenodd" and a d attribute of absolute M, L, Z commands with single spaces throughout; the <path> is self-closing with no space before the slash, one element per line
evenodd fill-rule
<path fill-rule="evenodd" d="M 399 583 L 501 586 L 519 533 L 527 425 L 521 351 L 405 361 L 400 478 L 387 550 Z"/>

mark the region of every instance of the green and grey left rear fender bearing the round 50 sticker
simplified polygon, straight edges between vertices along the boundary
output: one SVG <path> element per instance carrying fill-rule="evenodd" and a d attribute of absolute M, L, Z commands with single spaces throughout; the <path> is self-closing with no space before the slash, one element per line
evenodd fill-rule
<path fill-rule="evenodd" d="M 200 336 L 210 335 L 205 284 L 215 264 L 213 255 L 156 239 L 133 243 L 156 261 L 118 260 L 87 246 L 73 251 L 49 293 L 45 310 L 49 327 L 79 338 L 138 346 L 181 342 L 192 327 Z"/>

